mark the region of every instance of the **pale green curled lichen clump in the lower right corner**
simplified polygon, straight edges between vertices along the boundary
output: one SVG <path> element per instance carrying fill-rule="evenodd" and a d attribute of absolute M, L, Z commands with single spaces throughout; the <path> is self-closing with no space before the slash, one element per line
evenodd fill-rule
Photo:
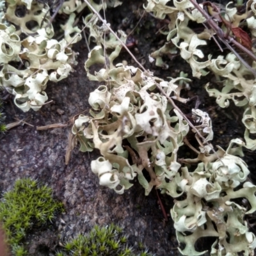
<path fill-rule="evenodd" d="M 239 140 L 232 143 L 243 145 Z M 202 153 L 197 159 L 186 159 L 186 163 L 203 163 L 199 163 L 193 173 L 189 173 L 188 168 L 181 168 L 182 174 L 177 173 L 175 181 L 172 180 L 174 193 L 171 195 L 174 198 L 186 193 L 186 199 L 176 201 L 171 210 L 177 239 L 179 243 L 186 244 L 180 250 L 183 255 L 204 254 L 205 252 L 196 252 L 195 243 L 205 236 L 217 239 L 212 244 L 211 255 L 237 255 L 241 251 L 244 251 L 244 255 L 251 255 L 256 248 L 255 236 L 243 220 L 244 214 L 251 214 L 256 210 L 256 186 L 251 182 L 244 182 L 250 172 L 241 158 L 232 155 L 235 151 L 236 154 L 241 153 L 239 147 L 235 150 L 228 148 L 226 152 L 219 148 L 217 154 L 220 159 Z M 216 159 L 213 163 L 209 162 L 212 157 Z M 243 188 L 235 191 L 234 188 L 241 184 Z M 178 195 L 176 190 L 180 191 Z M 251 209 L 248 211 L 231 202 L 236 198 L 246 198 Z"/>

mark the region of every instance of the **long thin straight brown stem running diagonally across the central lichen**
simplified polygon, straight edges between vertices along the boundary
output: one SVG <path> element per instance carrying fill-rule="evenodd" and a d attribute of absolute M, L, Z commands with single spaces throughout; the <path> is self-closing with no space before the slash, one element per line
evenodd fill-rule
<path fill-rule="evenodd" d="M 186 117 L 186 115 L 184 115 L 184 113 L 182 113 L 182 111 L 177 107 L 177 105 L 173 102 L 173 100 L 170 98 L 169 95 L 166 94 L 166 92 L 164 92 L 163 88 L 160 86 L 160 84 L 158 84 L 156 82 L 156 80 L 154 79 L 154 77 L 152 77 L 147 70 L 143 67 L 143 65 L 141 65 L 141 63 L 136 59 L 136 57 L 132 54 L 132 52 L 128 49 L 128 47 L 122 42 L 122 40 L 120 40 L 120 38 L 118 37 L 118 35 L 116 35 L 116 33 L 113 31 L 113 29 L 110 28 L 110 26 L 107 24 L 106 20 L 102 19 L 102 17 L 99 15 L 99 13 L 97 13 L 97 11 L 93 8 L 92 4 L 90 4 L 88 2 L 88 0 L 84 0 L 84 2 L 86 4 L 88 4 L 88 6 L 91 8 L 91 10 L 95 13 L 95 15 L 97 15 L 97 17 L 101 20 L 102 23 L 104 23 L 109 31 L 111 31 L 111 33 L 115 36 L 115 38 L 120 42 L 120 44 L 122 44 L 122 46 L 124 47 L 124 49 L 130 54 L 130 56 L 132 57 L 132 59 L 139 65 L 139 67 L 148 74 L 148 76 L 151 77 L 152 81 L 156 84 L 157 89 L 163 93 L 163 95 L 169 100 L 169 102 L 172 104 L 173 108 L 177 109 L 177 111 L 179 111 L 180 115 L 182 115 L 182 117 L 188 122 L 189 126 L 191 128 L 193 128 L 195 130 L 195 132 L 198 134 L 198 136 L 204 141 L 205 144 L 207 144 L 209 147 L 211 147 L 212 152 L 214 152 L 214 154 L 218 157 L 218 159 L 221 161 L 220 157 L 218 156 L 216 150 L 214 150 L 214 148 L 210 145 L 210 143 L 205 140 L 205 138 L 200 134 L 200 132 L 198 131 L 198 129 L 196 129 L 195 125 L 193 125 L 189 119 Z M 223 161 L 221 161 L 221 163 L 223 164 L 223 166 L 225 165 L 223 163 Z"/>

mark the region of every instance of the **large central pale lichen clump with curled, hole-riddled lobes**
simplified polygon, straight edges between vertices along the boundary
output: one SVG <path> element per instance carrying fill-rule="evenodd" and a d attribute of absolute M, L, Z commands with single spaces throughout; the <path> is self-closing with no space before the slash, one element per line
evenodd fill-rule
<path fill-rule="evenodd" d="M 81 147 L 85 151 L 98 148 L 102 154 L 92 161 L 93 172 L 99 175 L 100 184 L 114 188 L 118 193 L 130 188 L 129 180 L 136 175 L 146 194 L 153 186 L 168 189 L 164 179 L 172 179 L 179 170 L 177 150 L 188 133 L 188 124 L 175 110 L 172 117 L 166 118 L 172 106 L 159 93 L 148 93 L 156 88 L 156 84 L 139 68 L 117 65 L 109 72 L 109 81 L 114 86 L 120 85 L 110 91 L 106 86 L 100 86 L 90 93 L 93 117 L 80 115 L 72 129 L 80 143 L 83 141 Z M 177 79 L 158 81 L 168 94 L 173 93 L 179 99 Z M 128 140 L 132 149 L 122 145 L 123 140 Z M 149 149 L 152 150 L 150 161 Z M 128 154 L 138 154 L 141 163 L 129 164 Z M 155 170 L 152 163 L 156 164 Z M 150 182 L 142 174 L 144 168 L 150 173 Z"/>

